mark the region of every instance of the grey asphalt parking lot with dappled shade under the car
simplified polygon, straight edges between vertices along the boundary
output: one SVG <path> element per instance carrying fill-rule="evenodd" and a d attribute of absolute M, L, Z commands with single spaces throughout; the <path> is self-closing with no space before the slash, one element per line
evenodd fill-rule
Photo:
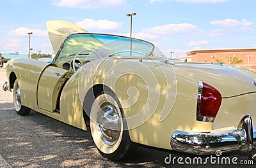
<path fill-rule="evenodd" d="M 5 69 L 0 68 L 1 86 L 4 81 Z M 227 163 L 221 163 L 223 157 L 230 158 L 229 165 L 232 167 L 242 167 L 241 164 L 253 167 L 256 164 L 248 153 L 242 152 L 223 153 L 220 157 L 202 156 L 202 164 L 193 164 L 193 158 L 198 156 L 143 146 L 139 146 L 129 160 L 111 162 L 99 154 L 90 132 L 35 111 L 28 116 L 17 115 L 12 104 L 12 93 L 3 92 L 2 88 L 0 121 L 0 167 L 223 167 L 227 166 Z M 207 160 L 207 157 L 215 158 Z M 177 161 L 178 158 L 182 158 L 181 162 Z M 233 163 L 232 158 L 237 158 L 236 162 Z"/>

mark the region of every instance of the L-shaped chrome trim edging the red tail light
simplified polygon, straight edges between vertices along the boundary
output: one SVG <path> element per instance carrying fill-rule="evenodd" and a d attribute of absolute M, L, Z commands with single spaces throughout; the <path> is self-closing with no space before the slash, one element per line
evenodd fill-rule
<path fill-rule="evenodd" d="M 198 81 L 198 93 L 197 93 L 197 103 L 196 103 L 196 120 L 200 122 L 214 122 L 215 117 L 200 116 L 200 104 L 203 92 L 203 82 Z"/>

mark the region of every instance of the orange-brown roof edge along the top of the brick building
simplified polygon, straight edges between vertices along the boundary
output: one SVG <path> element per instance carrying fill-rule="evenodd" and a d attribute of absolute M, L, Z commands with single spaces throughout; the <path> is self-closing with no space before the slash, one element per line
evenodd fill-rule
<path fill-rule="evenodd" d="M 214 52 L 256 52 L 256 48 L 222 48 L 222 49 L 202 49 L 192 50 L 186 52 L 187 55 L 193 55 L 195 53 L 214 53 Z"/>

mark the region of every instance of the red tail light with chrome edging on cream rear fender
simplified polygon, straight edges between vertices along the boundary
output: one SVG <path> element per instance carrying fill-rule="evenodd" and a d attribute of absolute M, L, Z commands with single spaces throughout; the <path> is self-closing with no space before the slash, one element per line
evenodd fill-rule
<path fill-rule="evenodd" d="M 221 99 L 221 94 L 216 88 L 198 81 L 196 119 L 213 122 L 220 109 Z"/>

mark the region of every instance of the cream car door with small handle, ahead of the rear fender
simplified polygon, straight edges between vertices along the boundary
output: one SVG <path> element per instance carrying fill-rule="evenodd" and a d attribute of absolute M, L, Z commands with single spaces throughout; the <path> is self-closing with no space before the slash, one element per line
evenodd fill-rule
<path fill-rule="evenodd" d="M 55 66 L 46 67 L 38 81 L 38 108 L 49 112 L 58 112 L 58 100 L 68 78 L 70 78 L 70 71 Z"/>

